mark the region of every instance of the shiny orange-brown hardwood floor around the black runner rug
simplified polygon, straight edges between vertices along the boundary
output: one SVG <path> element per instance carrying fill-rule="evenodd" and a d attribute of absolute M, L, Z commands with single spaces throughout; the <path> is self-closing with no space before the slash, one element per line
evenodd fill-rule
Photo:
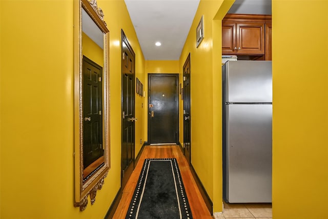
<path fill-rule="evenodd" d="M 193 218 L 210 219 L 213 218 L 203 201 L 200 191 L 196 185 L 193 175 L 190 171 L 186 157 L 181 152 L 179 146 L 145 146 L 139 161 L 128 180 L 126 187 L 123 189 L 121 200 L 114 213 L 114 219 L 125 218 L 129 204 L 137 184 L 139 174 L 146 158 L 176 158 L 183 184 L 186 188 L 188 201 L 190 204 Z"/>

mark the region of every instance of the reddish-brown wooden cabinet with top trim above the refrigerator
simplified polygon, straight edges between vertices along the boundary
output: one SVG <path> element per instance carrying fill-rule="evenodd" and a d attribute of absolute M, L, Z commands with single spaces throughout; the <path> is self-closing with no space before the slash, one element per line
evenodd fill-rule
<path fill-rule="evenodd" d="M 227 14 L 222 20 L 222 54 L 265 55 L 265 24 L 271 15 Z"/>

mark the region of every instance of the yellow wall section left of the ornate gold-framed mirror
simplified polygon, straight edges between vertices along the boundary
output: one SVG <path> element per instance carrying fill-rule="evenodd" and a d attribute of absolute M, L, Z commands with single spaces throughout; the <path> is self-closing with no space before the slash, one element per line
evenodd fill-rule
<path fill-rule="evenodd" d="M 1 17 L 0 217 L 72 216 L 73 2 L 1 1 Z"/>

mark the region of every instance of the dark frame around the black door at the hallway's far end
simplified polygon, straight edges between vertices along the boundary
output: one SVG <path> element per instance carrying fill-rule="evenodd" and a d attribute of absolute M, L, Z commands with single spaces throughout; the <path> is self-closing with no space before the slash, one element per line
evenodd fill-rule
<path fill-rule="evenodd" d="M 159 77 L 165 77 L 165 76 L 175 76 L 176 77 L 176 92 L 177 92 L 177 98 L 176 98 L 176 109 L 177 109 L 177 126 L 176 126 L 176 136 L 175 136 L 175 139 L 176 139 L 176 142 L 175 144 L 179 144 L 179 88 L 178 88 L 178 84 L 179 84 L 179 74 L 175 74 L 175 73 L 148 73 L 148 104 L 147 104 L 147 111 L 148 111 L 148 123 L 147 123 L 147 130 L 148 130 L 148 144 L 151 145 L 151 137 L 150 137 L 150 131 L 151 131 L 151 127 L 150 127 L 150 122 L 151 122 L 151 112 L 150 112 L 150 107 L 149 105 L 151 104 L 150 103 L 150 95 L 151 95 L 151 92 L 150 92 L 150 77 L 152 75 L 156 75 L 156 76 L 159 76 Z M 156 144 L 154 144 L 156 145 Z M 157 145 L 161 145 L 161 144 L 157 144 Z M 167 144 L 166 144 L 167 145 Z"/>

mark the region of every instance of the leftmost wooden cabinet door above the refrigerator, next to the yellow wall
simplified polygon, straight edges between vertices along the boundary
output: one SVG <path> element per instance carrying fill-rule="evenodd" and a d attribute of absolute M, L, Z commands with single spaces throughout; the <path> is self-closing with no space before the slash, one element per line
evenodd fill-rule
<path fill-rule="evenodd" d="M 236 54 L 236 24 L 222 23 L 222 54 Z"/>

